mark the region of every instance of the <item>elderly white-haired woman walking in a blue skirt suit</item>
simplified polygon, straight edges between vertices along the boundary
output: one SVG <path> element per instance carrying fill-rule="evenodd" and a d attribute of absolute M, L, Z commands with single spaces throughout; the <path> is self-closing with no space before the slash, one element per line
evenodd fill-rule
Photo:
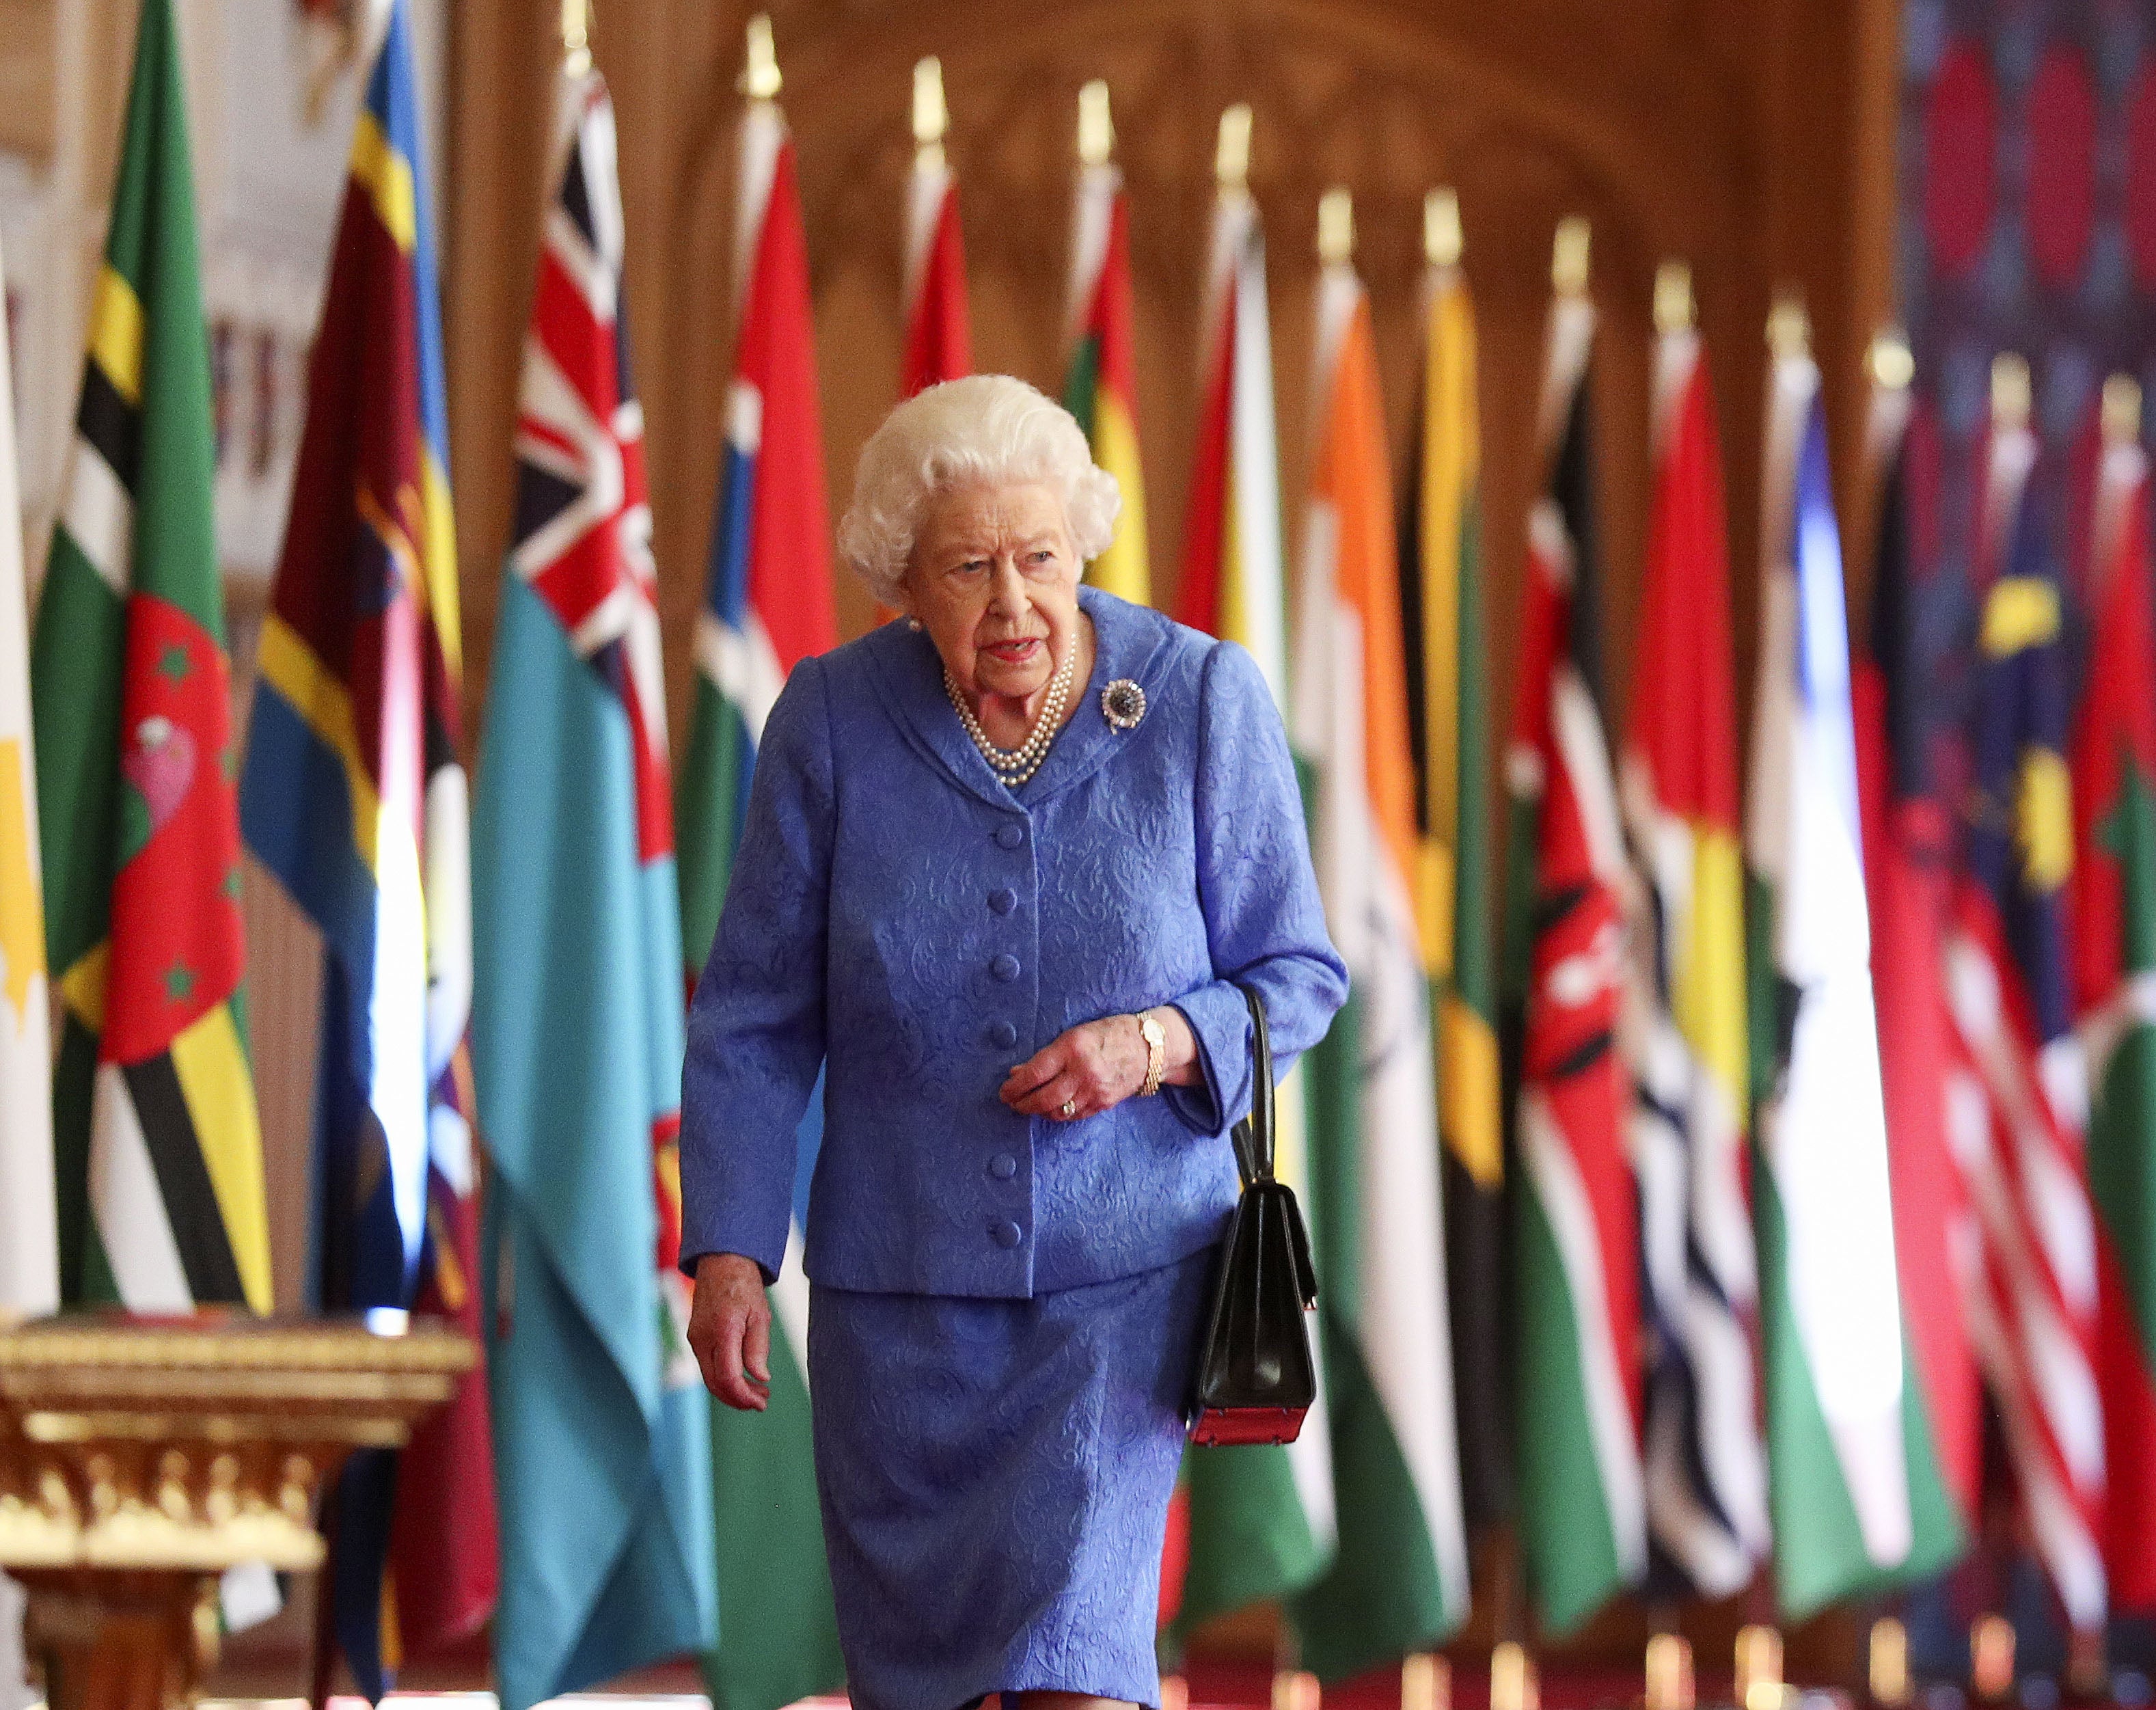
<path fill-rule="evenodd" d="M 854 1701 L 1160 1701 L 1160 1548 L 1248 1011 L 1345 998 L 1257 664 L 1080 587 L 1112 477 L 1024 382 L 901 403 L 841 548 L 903 621 L 772 707 L 690 1011 L 683 1268 L 761 1408 L 806 1208 L 808 1389 Z"/>

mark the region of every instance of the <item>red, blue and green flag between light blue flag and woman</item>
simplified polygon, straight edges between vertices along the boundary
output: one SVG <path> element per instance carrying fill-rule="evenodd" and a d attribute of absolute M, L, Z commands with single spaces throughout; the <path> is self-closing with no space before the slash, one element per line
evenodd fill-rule
<path fill-rule="evenodd" d="M 787 673 L 839 640 L 808 250 L 793 140 L 772 101 L 748 104 L 740 157 L 727 453 L 709 597 L 696 617 L 696 712 L 677 791 L 681 938 L 692 983 L 718 932 L 763 718 Z M 834 1691 L 845 1678 L 808 1447 L 808 1279 L 800 1249 L 821 1119 L 817 1091 L 802 1117 L 793 1240 L 772 1292 L 770 1410 L 711 1408 L 724 1626 L 705 1660 L 705 1684 L 718 1710 L 778 1710 Z"/>

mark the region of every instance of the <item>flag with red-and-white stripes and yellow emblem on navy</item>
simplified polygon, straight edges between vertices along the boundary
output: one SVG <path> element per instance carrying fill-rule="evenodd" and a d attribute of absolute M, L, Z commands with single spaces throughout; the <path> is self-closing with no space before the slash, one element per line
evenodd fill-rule
<path fill-rule="evenodd" d="M 1994 429 L 1994 464 L 2031 438 Z M 2024 457 L 1979 630 L 1975 776 L 1947 934 L 1962 1052 L 1949 1121 L 1984 1231 L 1964 1300 L 1971 1343 L 2035 1555 L 2070 1624 L 2091 1630 L 2106 1611 L 2098 1231 L 2083 1160 L 2089 1063 L 2072 1033 L 2065 942 L 2068 660 L 2044 509 Z"/>

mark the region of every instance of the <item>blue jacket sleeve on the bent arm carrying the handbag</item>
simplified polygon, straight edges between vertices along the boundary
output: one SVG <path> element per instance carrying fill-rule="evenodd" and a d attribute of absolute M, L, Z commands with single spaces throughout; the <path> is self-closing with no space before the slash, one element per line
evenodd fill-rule
<path fill-rule="evenodd" d="M 1214 979 L 1175 998 L 1199 1042 L 1199 1082 L 1164 1093 L 1194 1132 L 1220 1134 L 1250 1108 L 1250 1011 L 1238 981 L 1266 998 L 1274 1074 L 1348 1001 L 1287 731 L 1257 660 L 1235 643 L 1218 643 L 1201 677 L 1197 863 Z"/>

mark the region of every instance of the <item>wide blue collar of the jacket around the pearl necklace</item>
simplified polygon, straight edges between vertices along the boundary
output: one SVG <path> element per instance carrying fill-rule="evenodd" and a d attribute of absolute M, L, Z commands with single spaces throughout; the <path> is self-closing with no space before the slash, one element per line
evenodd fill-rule
<path fill-rule="evenodd" d="M 1169 638 L 1169 623 L 1145 606 L 1132 606 L 1102 589 L 1078 589 L 1078 608 L 1093 619 L 1093 677 L 1078 694 L 1063 733 L 1048 748 L 1041 770 L 1015 794 L 981 759 L 966 727 L 957 722 L 942 686 L 942 660 L 927 634 L 893 619 L 869 636 L 869 668 L 877 694 L 908 742 L 940 766 L 964 791 L 990 806 L 1033 811 L 1091 776 L 1138 731 L 1117 731 L 1102 714 L 1100 694 L 1119 677 L 1130 677 L 1158 699 L 1153 662 Z"/>

